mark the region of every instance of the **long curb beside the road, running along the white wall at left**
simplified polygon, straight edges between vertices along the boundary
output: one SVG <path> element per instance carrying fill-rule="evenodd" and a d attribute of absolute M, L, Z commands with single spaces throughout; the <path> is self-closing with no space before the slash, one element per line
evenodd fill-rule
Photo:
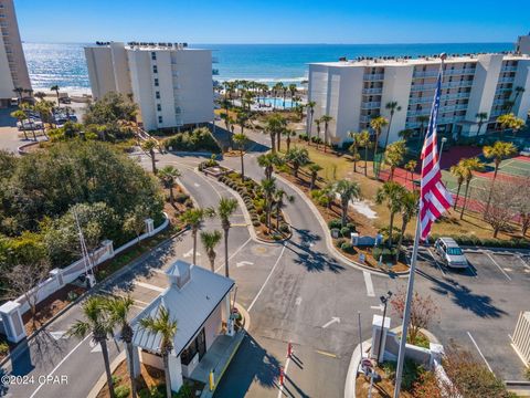
<path fill-rule="evenodd" d="M 169 226 L 169 224 L 168 224 Z M 180 230 L 179 232 L 177 233 L 173 233 L 171 237 L 169 237 L 168 239 L 161 241 L 159 244 L 157 244 L 155 248 L 152 248 L 149 252 L 146 252 L 144 254 L 141 254 L 139 258 L 132 260 L 129 264 L 125 265 L 124 268 L 119 269 L 118 271 L 116 271 L 115 273 L 108 275 L 106 279 L 104 279 L 102 282 L 99 282 L 99 284 L 96 284 L 96 286 L 94 286 L 93 289 L 89 289 L 87 290 L 86 292 L 84 292 L 83 294 L 81 294 L 77 298 L 75 298 L 73 302 L 71 302 L 68 305 L 66 305 L 64 308 L 62 308 L 60 312 L 57 312 L 55 315 L 53 315 L 50 320 L 47 320 L 44 324 L 42 324 L 36 331 L 34 331 L 30 336 L 28 336 L 26 338 L 20 341 L 17 346 L 13 348 L 13 350 L 11 350 L 11 353 L 9 355 L 7 355 L 1 362 L 0 362 L 0 367 L 6 365 L 9 360 L 12 360 L 12 359 L 15 359 L 21 353 L 19 353 L 20 350 L 23 350 L 28 347 L 28 344 L 33 339 L 35 338 L 35 336 L 41 333 L 42 331 L 44 331 L 47 326 L 50 326 L 54 321 L 56 321 L 60 316 L 64 315 L 68 310 L 71 310 L 73 306 L 77 305 L 81 301 L 83 301 L 86 296 L 88 296 L 89 294 L 95 294 L 95 293 L 98 293 L 100 291 L 100 287 L 103 286 L 103 284 L 107 284 L 109 282 L 112 282 L 115 277 L 117 276 L 120 276 L 123 273 L 125 273 L 126 271 L 130 270 L 138 261 L 142 260 L 144 256 L 146 256 L 147 254 L 149 254 L 151 251 L 155 251 L 157 250 L 158 248 L 160 248 L 161 245 L 166 244 L 168 241 L 170 241 L 171 239 L 174 239 L 177 237 L 180 237 L 181 234 L 183 234 L 184 232 L 187 232 L 189 230 L 189 227 L 186 227 L 184 229 Z M 163 230 L 162 230 L 163 231 Z M 24 344 L 25 343 L 25 344 Z"/>

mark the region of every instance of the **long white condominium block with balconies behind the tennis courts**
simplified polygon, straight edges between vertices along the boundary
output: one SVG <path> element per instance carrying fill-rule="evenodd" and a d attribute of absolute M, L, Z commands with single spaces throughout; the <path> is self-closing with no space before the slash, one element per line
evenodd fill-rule
<path fill-rule="evenodd" d="M 487 114 L 479 134 L 495 127 L 507 112 L 528 117 L 530 108 L 530 35 L 520 36 L 516 51 L 495 54 L 448 54 L 438 115 L 438 132 L 454 136 L 478 133 L 479 114 Z M 389 143 L 404 129 L 421 129 L 433 103 L 441 59 L 434 56 L 358 59 L 309 64 L 309 101 L 314 119 L 329 115 L 331 143 L 348 140 L 348 132 L 369 128 L 379 115 L 390 119 L 386 104 L 401 111 L 392 117 Z M 483 115 L 484 119 L 484 115 Z M 315 126 L 312 132 L 315 134 Z M 383 129 L 381 140 L 385 138 Z"/>

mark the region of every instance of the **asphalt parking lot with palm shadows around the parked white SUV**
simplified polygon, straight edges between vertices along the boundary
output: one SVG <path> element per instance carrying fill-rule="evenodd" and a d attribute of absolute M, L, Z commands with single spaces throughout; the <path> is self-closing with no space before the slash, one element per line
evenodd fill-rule
<path fill-rule="evenodd" d="M 523 363 L 511 346 L 521 311 L 529 311 L 530 255 L 465 250 L 466 270 L 444 265 L 433 249 L 418 254 L 416 289 L 431 294 L 439 320 L 430 327 L 444 345 L 476 354 L 505 380 L 522 380 Z"/>

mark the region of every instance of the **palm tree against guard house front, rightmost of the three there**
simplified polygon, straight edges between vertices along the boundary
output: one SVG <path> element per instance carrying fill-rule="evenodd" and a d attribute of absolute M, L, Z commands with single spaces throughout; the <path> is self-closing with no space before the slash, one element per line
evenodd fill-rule
<path fill-rule="evenodd" d="M 166 397 L 171 398 L 171 377 L 169 371 L 169 355 L 173 350 L 173 338 L 177 334 L 177 321 L 171 320 L 169 311 L 160 305 L 158 308 L 157 317 L 146 316 L 140 320 L 140 327 L 155 334 L 161 335 L 160 339 L 160 354 L 162 355 L 163 360 L 163 373 L 166 376 Z"/>

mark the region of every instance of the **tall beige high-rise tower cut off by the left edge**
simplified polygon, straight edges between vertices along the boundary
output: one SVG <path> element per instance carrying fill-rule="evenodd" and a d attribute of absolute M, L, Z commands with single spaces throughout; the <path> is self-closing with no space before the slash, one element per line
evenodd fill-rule
<path fill-rule="evenodd" d="M 13 0 L 0 0 L 0 106 L 17 94 L 14 88 L 30 90 L 31 82 L 25 64 Z"/>

